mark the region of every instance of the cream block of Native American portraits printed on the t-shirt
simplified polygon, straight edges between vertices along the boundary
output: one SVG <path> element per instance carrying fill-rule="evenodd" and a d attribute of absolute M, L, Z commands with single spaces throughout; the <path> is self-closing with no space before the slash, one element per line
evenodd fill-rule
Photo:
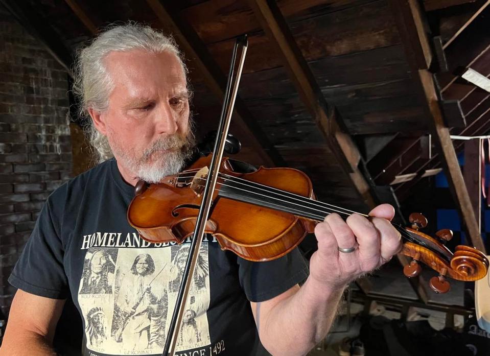
<path fill-rule="evenodd" d="M 89 350 L 118 355 L 161 353 L 189 244 L 162 247 L 88 248 L 78 300 Z M 203 241 L 176 351 L 211 344 L 209 300 L 208 246 Z"/>

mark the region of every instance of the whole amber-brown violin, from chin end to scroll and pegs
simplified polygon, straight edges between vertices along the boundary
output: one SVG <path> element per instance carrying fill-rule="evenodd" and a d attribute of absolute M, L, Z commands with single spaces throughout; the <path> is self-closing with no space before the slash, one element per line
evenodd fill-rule
<path fill-rule="evenodd" d="M 138 182 L 128 221 L 144 240 L 181 244 L 192 235 L 210 160 L 210 155 L 201 157 L 159 184 Z M 287 254 L 329 213 L 354 213 L 315 200 L 311 180 L 301 171 L 261 167 L 239 173 L 227 157 L 221 160 L 212 201 L 205 232 L 215 236 L 223 250 L 256 262 Z M 446 276 L 474 281 L 486 275 L 488 259 L 482 252 L 457 246 L 452 253 L 444 245 L 452 238 L 451 230 L 440 230 L 432 237 L 419 231 L 427 226 L 421 213 L 412 213 L 409 221 L 410 227 L 392 224 L 403 239 L 401 253 L 413 258 L 404 267 L 407 277 L 421 273 L 422 262 L 439 273 L 430 280 L 430 287 L 445 293 L 449 291 Z"/>

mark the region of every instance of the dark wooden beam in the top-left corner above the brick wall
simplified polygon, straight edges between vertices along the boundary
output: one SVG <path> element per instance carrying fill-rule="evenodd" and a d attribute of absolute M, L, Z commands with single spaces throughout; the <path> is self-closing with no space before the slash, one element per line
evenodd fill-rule
<path fill-rule="evenodd" d="M 61 43 L 58 34 L 40 20 L 32 7 L 26 2 L 15 0 L 0 0 L 0 4 L 3 4 L 20 25 L 44 45 L 45 49 L 66 70 L 66 73 L 73 77 L 71 51 Z"/>

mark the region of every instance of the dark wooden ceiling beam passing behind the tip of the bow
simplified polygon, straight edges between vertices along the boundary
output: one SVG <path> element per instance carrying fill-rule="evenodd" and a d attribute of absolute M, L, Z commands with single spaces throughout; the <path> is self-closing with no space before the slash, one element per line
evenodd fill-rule
<path fill-rule="evenodd" d="M 157 16 L 159 25 L 173 34 L 186 58 L 192 60 L 193 66 L 202 74 L 208 88 L 221 101 L 224 98 L 226 78 L 193 27 L 186 23 L 177 11 L 174 11 L 170 2 L 147 0 L 147 3 Z M 235 101 L 234 122 L 255 152 L 259 154 L 263 164 L 269 167 L 285 165 L 284 159 L 270 143 L 267 135 L 239 97 Z"/>

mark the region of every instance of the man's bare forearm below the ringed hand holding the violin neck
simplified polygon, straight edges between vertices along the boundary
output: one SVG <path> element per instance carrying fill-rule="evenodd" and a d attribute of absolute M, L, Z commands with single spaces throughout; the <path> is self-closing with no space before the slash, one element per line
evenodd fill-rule
<path fill-rule="evenodd" d="M 261 342 L 273 355 L 305 355 L 329 332 L 343 288 L 325 288 L 308 278 L 298 292 L 277 303 L 261 320 Z M 260 305 L 257 307 L 260 313 Z"/>

